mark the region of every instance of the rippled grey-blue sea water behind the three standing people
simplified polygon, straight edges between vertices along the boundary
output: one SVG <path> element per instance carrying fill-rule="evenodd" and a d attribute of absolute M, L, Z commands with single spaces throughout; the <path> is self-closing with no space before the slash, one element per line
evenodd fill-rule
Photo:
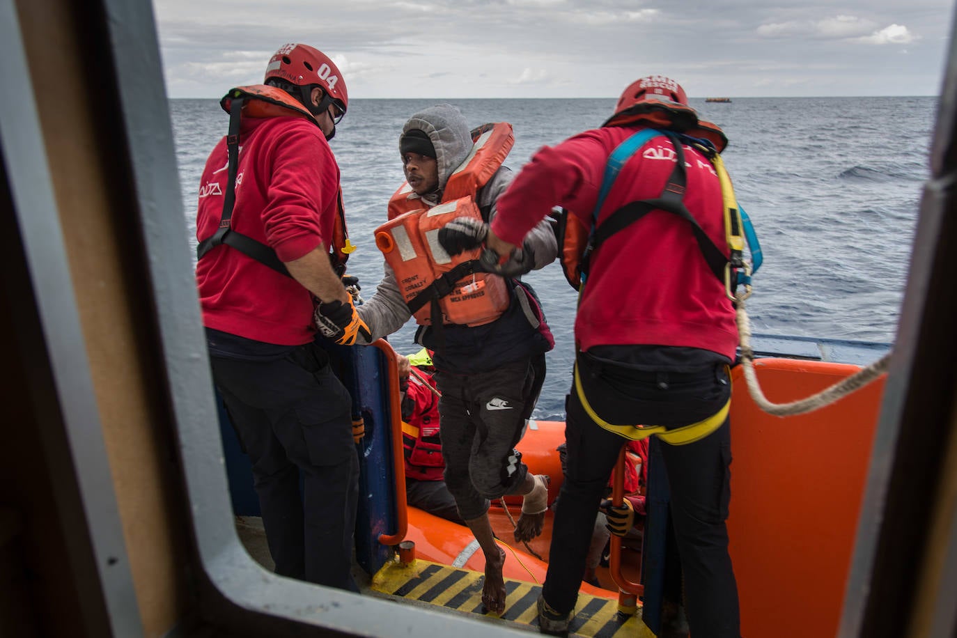
<path fill-rule="evenodd" d="M 331 145 L 342 169 L 349 257 L 362 295 L 382 277 L 373 230 L 403 181 L 398 138 L 415 111 L 442 101 L 471 125 L 508 121 L 519 169 L 545 144 L 601 124 L 614 99 L 353 99 Z M 764 252 L 747 312 L 755 333 L 892 342 L 924 181 L 937 99 L 776 98 L 705 103 L 701 117 L 730 141 L 724 164 Z M 172 99 L 170 113 L 185 229 L 195 248 L 199 178 L 229 116 L 216 99 Z M 641 276 L 635 273 L 634 276 Z M 575 293 L 558 263 L 525 276 L 542 297 L 556 338 L 534 416 L 564 419 L 573 359 Z M 609 303 L 619 303 L 609 299 Z M 389 338 L 418 350 L 414 324 Z"/>

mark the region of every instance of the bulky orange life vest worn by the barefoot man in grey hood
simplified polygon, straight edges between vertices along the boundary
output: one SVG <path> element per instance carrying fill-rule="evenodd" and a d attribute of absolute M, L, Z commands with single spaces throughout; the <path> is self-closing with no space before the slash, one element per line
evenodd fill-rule
<path fill-rule="evenodd" d="M 505 280 L 479 270 L 481 249 L 454 257 L 438 243 L 438 231 L 456 217 L 482 219 L 476 193 L 499 170 L 515 143 L 507 122 L 483 124 L 472 131 L 468 157 L 449 177 L 442 201 L 429 209 L 408 183 L 389 200 L 389 221 L 375 231 L 375 243 L 395 272 L 412 315 L 421 325 L 483 325 L 508 308 Z M 412 195 L 412 196 L 411 196 Z"/>

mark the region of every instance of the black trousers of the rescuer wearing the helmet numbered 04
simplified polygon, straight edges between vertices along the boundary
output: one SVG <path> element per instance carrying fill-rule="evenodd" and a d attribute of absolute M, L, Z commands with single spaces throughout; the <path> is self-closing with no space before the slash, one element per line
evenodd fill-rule
<path fill-rule="evenodd" d="M 351 575 L 359 494 L 352 400 L 325 353 L 308 343 L 276 361 L 211 363 L 253 465 L 276 573 L 358 591 Z"/>

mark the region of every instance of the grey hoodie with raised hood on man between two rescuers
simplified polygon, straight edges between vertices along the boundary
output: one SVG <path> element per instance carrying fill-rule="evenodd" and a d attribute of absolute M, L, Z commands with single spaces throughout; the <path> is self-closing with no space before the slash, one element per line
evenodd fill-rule
<path fill-rule="evenodd" d="M 417 128 L 425 132 L 435 148 L 435 161 L 438 165 L 438 188 L 434 193 L 421 197 L 423 204 L 433 207 L 442 199 L 442 190 L 449 177 L 472 152 L 472 133 L 461 112 L 452 104 L 436 104 L 414 114 L 405 126 L 402 134 Z M 401 140 L 401 136 L 400 136 Z M 505 188 L 512 181 L 514 174 L 505 166 L 492 176 L 488 183 L 479 188 L 476 193 L 476 204 L 479 209 L 490 207 L 489 221 L 495 216 L 495 202 Z M 418 198 L 414 192 L 410 198 Z M 558 256 L 558 247 L 555 233 L 551 229 L 551 222 L 547 218 L 539 222 L 535 228 L 525 236 L 524 246 L 535 255 L 534 270 L 544 268 Z M 362 305 L 357 307 L 359 316 L 366 321 L 372 338 L 375 341 L 386 337 L 403 325 L 412 317 L 405 298 L 395 282 L 395 273 L 384 264 L 385 275 L 375 293 Z"/>

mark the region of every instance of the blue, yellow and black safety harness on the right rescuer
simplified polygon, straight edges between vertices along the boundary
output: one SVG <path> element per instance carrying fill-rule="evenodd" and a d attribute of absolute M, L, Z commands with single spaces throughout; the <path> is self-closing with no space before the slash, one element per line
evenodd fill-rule
<path fill-rule="evenodd" d="M 676 154 L 675 168 L 668 177 L 661 193 L 652 199 L 638 200 L 626 204 L 620 209 L 613 211 L 604 222 L 599 224 L 598 213 L 622 166 L 625 165 L 634 153 L 644 146 L 645 143 L 658 136 L 664 136 L 671 140 L 675 147 Z M 724 256 L 721 249 L 715 245 L 707 233 L 701 229 L 698 220 L 695 219 L 694 215 L 692 215 L 684 205 L 683 199 L 687 185 L 687 174 L 684 166 L 682 143 L 686 143 L 699 150 L 708 161 L 711 162 L 715 167 L 715 171 L 718 173 L 724 208 L 724 234 L 730 251 L 727 257 Z M 580 285 L 578 286 L 579 298 L 581 298 L 581 293 L 585 289 L 591 255 L 615 232 L 631 226 L 652 210 L 657 209 L 672 212 L 691 224 L 691 228 L 695 233 L 695 239 L 698 241 L 698 246 L 701 249 L 701 255 L 704 257 L 711 272 L 723 283 L 724 292 L 728 298 L 732 300 L 735 299 L 735 293 L 739 285 L 746 287 L 746 295 L 744 298 L 750 296 L 751 275 L 757 271 L 762 262 L 761 247 L 758 244 L 757 235 L 751 226 L 750 219 L 748 219 L 746 212 L 737 204 L 731 179 L 724 169 L 718 150 L 714 147 L 714 144 L 708 140 L 693 138 L 669 130 L 646 128 L 618 144 L 612 151 L 612 155 L 609 157 L 608 164 L 605 167 L 605 175 L 599 190 L 598 201 L 591 213 L 591 229 L 588 242 L 585 245 L 584 252 L 581 254 L 577 268 L 577 273 L 580 277 Z M 568 212 L 564 214 L 568 216 Z M 747 243 L 748 250 L 751 254 L 750 263 L 747 262 L 744 257 L 745 243 Z M 571 282 L 570 278 L 569 282 Z M 728 376 L 730 378 L 730 375 Z M 582 407 L 598 426 L 619 436 L 633 440 L 640 440 L 652 434 L 657 434 L 662 441 L 671 445 L 694 443 L 720 428 L 727 418 L 728 411 L 731 407 L 731 400 L 728 398 L 724 406 L 715 414 L 697 423 L 675 429 L 667 429 L 664 426 L 654 425 L 617 425 L 602 419 L 595 409 L 591 407 L 581 384 L 577 359 L 574 366 L 574 382 L 575 392 L 578 395 Z"/>

